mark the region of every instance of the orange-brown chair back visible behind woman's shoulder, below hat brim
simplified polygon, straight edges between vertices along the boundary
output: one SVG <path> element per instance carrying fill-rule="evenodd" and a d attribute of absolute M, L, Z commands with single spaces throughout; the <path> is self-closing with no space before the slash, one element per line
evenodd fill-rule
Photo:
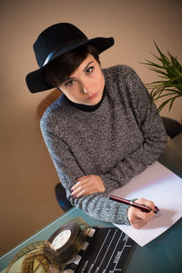
<path fill-rule="evenodd" d="M 48 106 L 50 106 L 59 96 L 61 96 L 61 91 L 58 89 L 54 89 L 48 96 L 45 96 L 44 100 L 39 104 L 37 108 L 37 114 L 39 119 L 45 113 L 45 110 Z"/>

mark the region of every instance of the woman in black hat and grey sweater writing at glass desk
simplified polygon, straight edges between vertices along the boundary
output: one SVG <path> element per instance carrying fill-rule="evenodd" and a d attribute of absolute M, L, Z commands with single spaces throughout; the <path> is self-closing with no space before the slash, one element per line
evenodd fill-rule
<path fill-rule="evenodd" d="M 108 194 L 154 163 L 167 145 L 147 89 L 128 66 L 101 69 L 99 54 L 114 39 L 87 39 L 75 25 L 52 25 L 34 44 L 39 69 L 26 76 L 32 93 L 63 93 L 41 120 L 45 144 L 70 202 L 91 217 L 142 227 L 149 213 L 110 200 Z"/>

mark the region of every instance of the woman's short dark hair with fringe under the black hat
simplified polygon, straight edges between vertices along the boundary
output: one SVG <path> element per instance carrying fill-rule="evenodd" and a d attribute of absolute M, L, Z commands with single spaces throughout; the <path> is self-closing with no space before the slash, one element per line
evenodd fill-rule
<path fill-rule="evenodd" d="M 100 65 L 99 53 L 93 45 L 82 45 L 57 57 L 45 69 L 45 80 L 52 86 L 58 87 L 66 82 L 76 68 L 91 54 Z"/>

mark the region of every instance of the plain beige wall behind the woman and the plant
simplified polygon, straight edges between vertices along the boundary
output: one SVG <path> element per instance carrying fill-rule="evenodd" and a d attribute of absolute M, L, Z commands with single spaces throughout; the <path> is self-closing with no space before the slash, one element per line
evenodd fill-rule
<path fill-rule="evenodd" d="M 70 22 L 89 37 L 111 36 L 116 45 L 103 66 L 126 64 L 147 83 L 157 77 L 140 64 L 155 52 L 153 40 L 182 61 L 180 0 L 1 0 L 1 252 L 59 217 L 55 168 L 39 129 L 39 105 L 49 91 L 32 95 L 25 75 L 36 69 L 32 44 L 48 25 Z M 182 100 L 165 116 L 180 120 Z M 6 243 L 5 243 L 6 241 Z"/>

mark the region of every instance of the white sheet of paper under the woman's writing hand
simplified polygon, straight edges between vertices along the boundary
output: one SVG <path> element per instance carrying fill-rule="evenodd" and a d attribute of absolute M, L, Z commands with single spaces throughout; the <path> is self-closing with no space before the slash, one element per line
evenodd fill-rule
<path fill-rule="evenodd" d="M 124 187 L 117 188 L 110 195 L 126 199 L 144 197 L 152 200 L 160 209 L 144 227 L 136 229 L 116 225 L 141 247 L 157 238 L 182 217 L 182 179 L 159 162 L 147 167 Z"/>

